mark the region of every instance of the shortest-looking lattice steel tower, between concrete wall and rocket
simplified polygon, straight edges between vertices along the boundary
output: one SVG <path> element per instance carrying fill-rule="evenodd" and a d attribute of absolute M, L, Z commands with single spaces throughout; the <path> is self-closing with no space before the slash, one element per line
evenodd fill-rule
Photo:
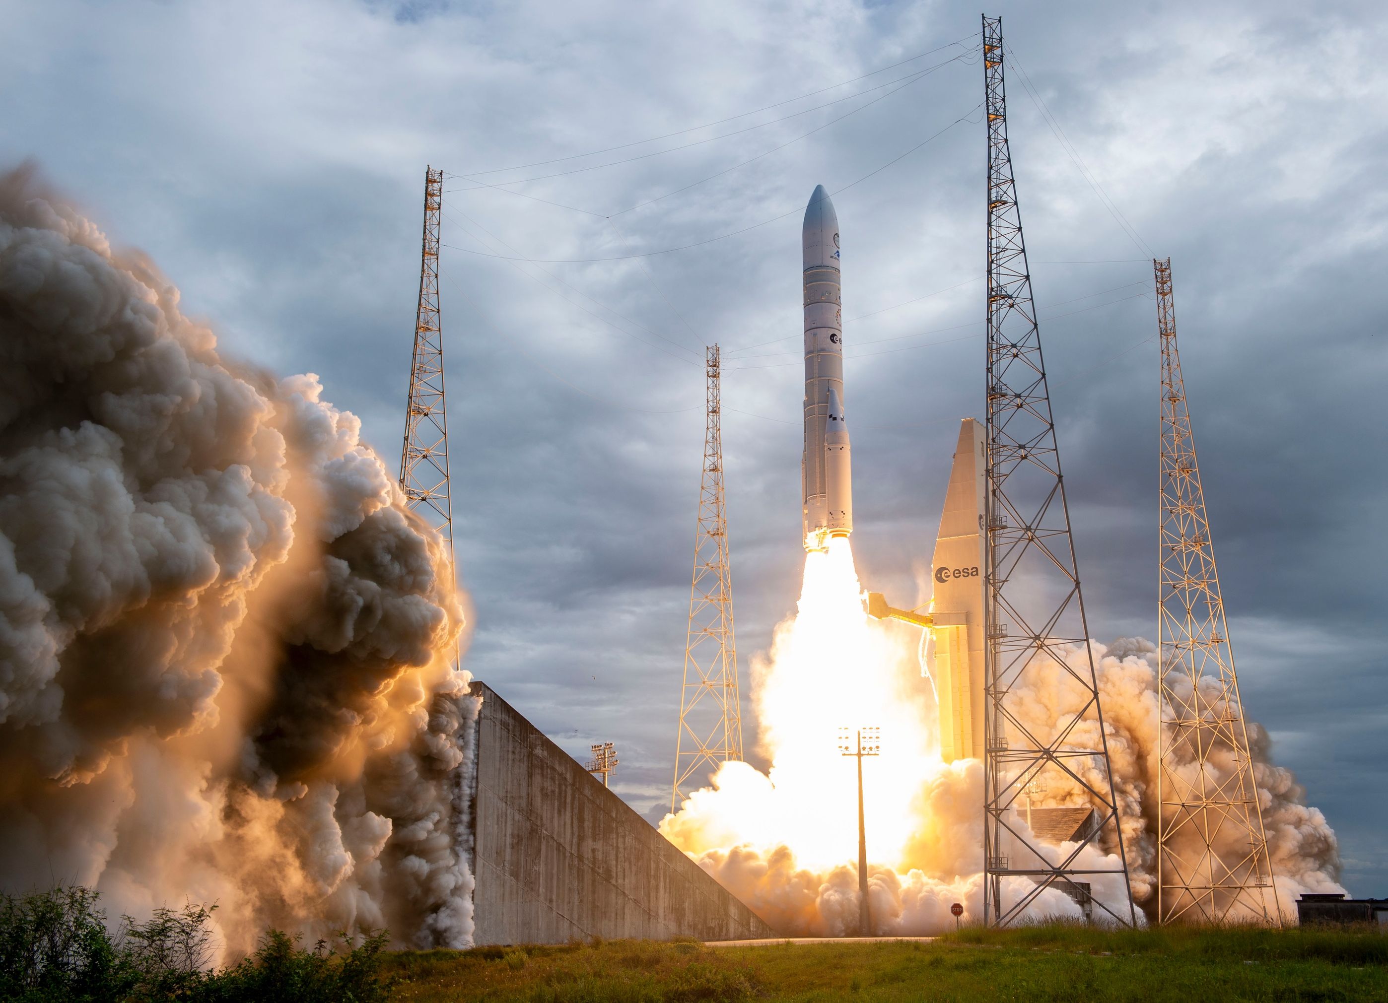
<path fill-rule="evenodd" d="M 694 580 L 684 645 L 680 728 L 675 739 L 675 785 L 670 810 L 725 760 L 743 757 L 743 703 L 737 689 L 733 642 L 733 577 L 727 565 L 727 516 L 723 509 L 723 433 L 719 426 L 719 350 L 708 347 L 705 363 L 708 419 L 704 430 L 704 477 L 694 537 Z"/>

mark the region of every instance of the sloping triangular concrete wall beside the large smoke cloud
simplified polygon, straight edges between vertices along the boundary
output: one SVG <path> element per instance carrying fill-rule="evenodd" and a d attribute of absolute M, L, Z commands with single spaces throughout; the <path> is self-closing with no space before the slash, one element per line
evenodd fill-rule
<path fill-rule="evenodd" d="M 775 936 L 490 687 L 472 692 L 477 945 Z"/>

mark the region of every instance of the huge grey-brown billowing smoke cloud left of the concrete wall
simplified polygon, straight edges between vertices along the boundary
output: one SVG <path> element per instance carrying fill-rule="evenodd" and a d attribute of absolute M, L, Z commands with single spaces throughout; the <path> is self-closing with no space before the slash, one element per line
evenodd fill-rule
<path fill-rule="evenodd" d="M 0 886 L 469 943 L 451 578 L 315 376 L 0 178 Z"/>

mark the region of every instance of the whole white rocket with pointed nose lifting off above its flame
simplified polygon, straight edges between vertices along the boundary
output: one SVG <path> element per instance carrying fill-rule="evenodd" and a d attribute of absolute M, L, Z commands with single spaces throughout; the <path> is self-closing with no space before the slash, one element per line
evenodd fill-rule
<path fill-rule="evenodd" d="M 805 549 L 854 531 L 852 447 L 844 422 L 844 311 L 838 215 L 820 185 L 805 207 Z"/>

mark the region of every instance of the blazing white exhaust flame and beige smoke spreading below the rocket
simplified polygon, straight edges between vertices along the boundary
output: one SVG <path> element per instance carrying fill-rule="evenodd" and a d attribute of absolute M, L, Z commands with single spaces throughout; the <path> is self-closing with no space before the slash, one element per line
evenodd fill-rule
<path fill-rule="evenodd" d="M 831 570 L 827 588 L 826 569 Z M 863 770 L 873 928 L 938 934 L 954 927 L 952 903 L 965 907 L 966 921 L 983 911 L 983 767 L 974 759 L 941 762 L 936 710 L 919 699 L 926 684 L 915 659 L 906 658 L 917 638 L 905 627 L 866 617 L 859 592 L 847 542 L 837 555 L 809 556 L 798 613 L 777 627 L 770 658 L 755 673 L 754 706 L 772 760 L 769 775 L 747 763 L 725 764 L 711 788 L 694 792 L 665 817 L 661 831 L 776 929 L 815 936 L 859 932 L 855 781 L 820 753 L 827 734 L 845 720 L 844 703 L 866 694 L 874 706 L 854 708 L 848 717 L 886 720 L 883 755 Z M 845 649 L 834 651 L 836 642 Z M 1151 914 L 1156 649 L 1144 640 L 1119 640 L 1109 646 L 1095 642 L 1092 651 L 1133 898 Z M 1069 659 L 1088 674 L 1083 646 Z M 1098 717 L 1065 685 L 1062 673 L 1053 662 L 1029 666 L 1010 694 L 1010 713 L 1045 737 L 1083 712 L 1073 741 L 1098 748 Z M 1295 921 L 1301 892 L 1344 891 L 1337 884 L 1335 835 L 1317 809 L 1303 805 L 1305 792 L 1291 774 L 1269 762 L 1266 732 L 1253 723 L 1249 739 L 1283 916 Z M 1216 771 L 1228 767 L 1228 762 L 1213 764 Z M 1098 773 L 1087 781 L 1106 785 Z M 1034 806 L 1088 806 L 1078 784 L 1066 788 L 1053 778 L 1051 784 L 1031 795 Z M 1109 827 L 1077 866 L 1112 867 L 1117 850 Z M 1015 900 L 1026 891 L 1019 884 L 1005 895 Z M 1127 911 L 1122 882 L 1113 877 L 1095 881 L 1094 893 L 1115 911 Z M 1029 916 L 1078 916 L 1078 906 L 1047 889 Z"/>

